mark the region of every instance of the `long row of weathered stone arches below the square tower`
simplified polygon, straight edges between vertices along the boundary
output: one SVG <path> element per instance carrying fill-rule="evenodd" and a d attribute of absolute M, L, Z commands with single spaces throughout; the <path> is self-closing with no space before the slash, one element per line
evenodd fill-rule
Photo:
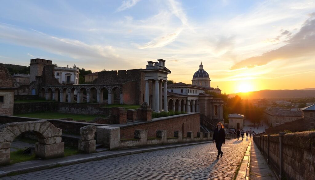
<path fill-rule="evenodd" d="M 38 95 L 46 100 L 57 102 L 123 104 L 123 94 L 120 86 L 46 87 L 41 88 Z"/>

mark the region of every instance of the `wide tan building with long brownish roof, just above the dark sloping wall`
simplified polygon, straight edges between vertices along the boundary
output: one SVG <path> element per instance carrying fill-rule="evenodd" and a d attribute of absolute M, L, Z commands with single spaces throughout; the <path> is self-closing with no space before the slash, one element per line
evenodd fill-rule
<path fill-rule="evenodd" d="M 303 113 L 296 108 L 273 108 L 264 111 L 265 122 L 268 122 L 268 124 L 272 126 L 278 126 L 301 118 L 303 118 Z"/>

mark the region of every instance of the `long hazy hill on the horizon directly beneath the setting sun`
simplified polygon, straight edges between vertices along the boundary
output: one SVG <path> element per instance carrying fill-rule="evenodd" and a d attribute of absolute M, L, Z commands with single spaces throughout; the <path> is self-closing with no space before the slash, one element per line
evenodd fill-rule
<path fill-rule="evenodd" d="M 238 95 L 242 99 L 315 97 L 315 90 L 260 90 L 229 95 L 230 97 Z"/>

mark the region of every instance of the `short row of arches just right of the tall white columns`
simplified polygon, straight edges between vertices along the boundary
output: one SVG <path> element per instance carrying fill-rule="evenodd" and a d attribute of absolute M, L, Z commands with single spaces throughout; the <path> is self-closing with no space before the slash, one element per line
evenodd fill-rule
<path fill-rule="evenodd" d="M 197 113 L 199 112 L 199 101 L 196 99 L 173 99 L 170 98 L 168 102 L 168 110 L 175 112 Z"/>

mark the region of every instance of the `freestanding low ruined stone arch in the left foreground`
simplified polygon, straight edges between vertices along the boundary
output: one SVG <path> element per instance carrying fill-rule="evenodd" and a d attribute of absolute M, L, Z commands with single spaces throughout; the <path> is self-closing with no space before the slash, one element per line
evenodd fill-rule
<path fill-rule="evenodd" d="M 61 142 L 62 130 L 56 128 L 48 121 L 26 121 L 8 123 L 0 126 L 0 165 L 10 163 L 11 142 L 23 132 L 33 131 L 38 138 L 35 154 L 40 158 L 62 157 L 64 155 L 64 142 Z"/>

